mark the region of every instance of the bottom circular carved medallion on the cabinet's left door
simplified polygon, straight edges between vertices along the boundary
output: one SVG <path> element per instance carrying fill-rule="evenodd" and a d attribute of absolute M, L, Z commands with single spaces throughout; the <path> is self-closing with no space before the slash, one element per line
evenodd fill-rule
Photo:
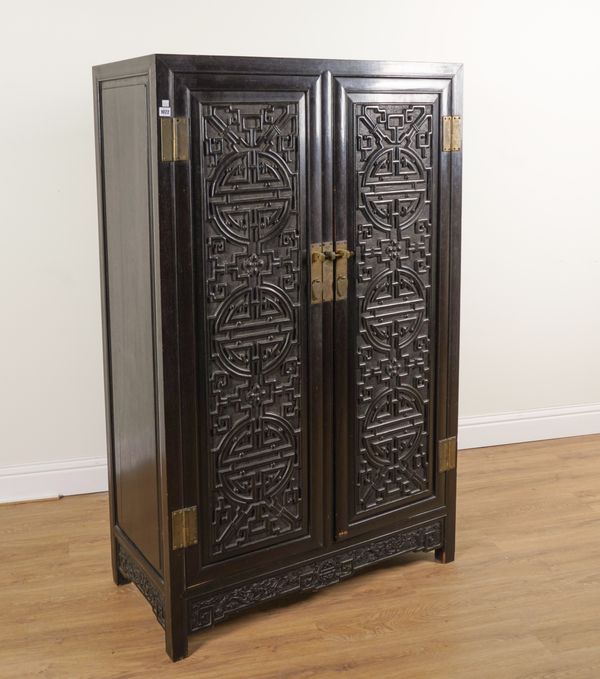
<path fill-rule="evenodd" d="M 277 495 L 296 466 L 296 438 L 289 423 L 263 415 L 238 424 L 217 453 L 217 476 L 232 502 L 261 502 Z"/>

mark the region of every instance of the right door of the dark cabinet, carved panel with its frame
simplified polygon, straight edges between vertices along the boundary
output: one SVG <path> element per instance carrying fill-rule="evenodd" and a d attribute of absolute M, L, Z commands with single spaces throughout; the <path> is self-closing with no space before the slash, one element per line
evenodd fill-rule
<path fill-rule="evenodd" d="M 335 238 L 336 537 L 439 510 L 445 424 L 449 81 L 338 78 Z"/>

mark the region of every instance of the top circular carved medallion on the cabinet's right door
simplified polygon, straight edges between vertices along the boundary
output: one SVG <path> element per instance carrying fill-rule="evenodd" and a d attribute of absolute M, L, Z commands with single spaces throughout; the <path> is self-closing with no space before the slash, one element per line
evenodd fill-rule
<path fill-rule="evenodd" d="M 400 146 L 374 154 L 361 179 L 362 207 L 374 226 L 385 231 L 412 224 L 425 202 L 427 182 L 419 157 Z"/>

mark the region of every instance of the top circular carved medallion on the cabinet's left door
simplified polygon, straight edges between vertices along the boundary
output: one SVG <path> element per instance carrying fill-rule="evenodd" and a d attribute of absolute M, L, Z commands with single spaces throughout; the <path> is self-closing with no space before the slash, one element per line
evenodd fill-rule
<path fill-rule="evenodd" d="M 257 242 L 282 229 L 294 202 L 287 165 L 274 153 L 250 149 L 225 157 L 209 190 L 209 213 L 236 243 Z"/>

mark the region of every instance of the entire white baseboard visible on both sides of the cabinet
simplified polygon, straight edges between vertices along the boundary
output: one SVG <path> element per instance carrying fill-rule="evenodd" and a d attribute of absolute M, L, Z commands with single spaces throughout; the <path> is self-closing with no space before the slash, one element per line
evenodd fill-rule
<path fill-rule="evenodd" d="M 459 448 L 600 433 L 600 403 L 461 417 Z M 0 467 L 0 503 L 99 493 L 108 488 L 104 457 Z"/>

